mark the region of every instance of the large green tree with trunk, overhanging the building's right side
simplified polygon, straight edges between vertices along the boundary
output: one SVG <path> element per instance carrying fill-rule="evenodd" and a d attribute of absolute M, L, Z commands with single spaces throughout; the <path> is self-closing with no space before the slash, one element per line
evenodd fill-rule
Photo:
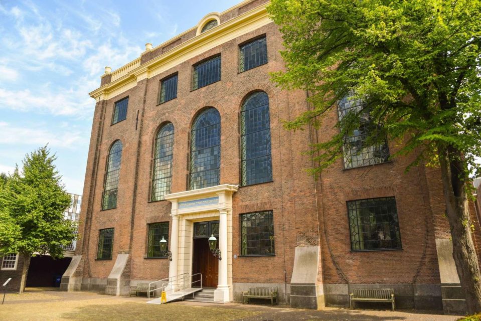
<path fill-rule="evenodd" d="M 317 128 L 338 101 L 362 101 L 339 134 L 316 144 L 313 172 L 342 157 L 346 137 L 366 126 L 366 144 L 388 137 L 416 155 L 410 166 L 440 168 L 453 258 L 470 312 L 481 311 L 481 280 L 468 213 L 469 175 L 481 174 L 481 3 L 477 0 L 272 0 L 280 26 L 283 89 L 309 92 L 312 110 L 285 123 Z M 409 167 L 408 167 L 409 169 Z M 407 169 L 407 170 L 408 170 Z"/>

